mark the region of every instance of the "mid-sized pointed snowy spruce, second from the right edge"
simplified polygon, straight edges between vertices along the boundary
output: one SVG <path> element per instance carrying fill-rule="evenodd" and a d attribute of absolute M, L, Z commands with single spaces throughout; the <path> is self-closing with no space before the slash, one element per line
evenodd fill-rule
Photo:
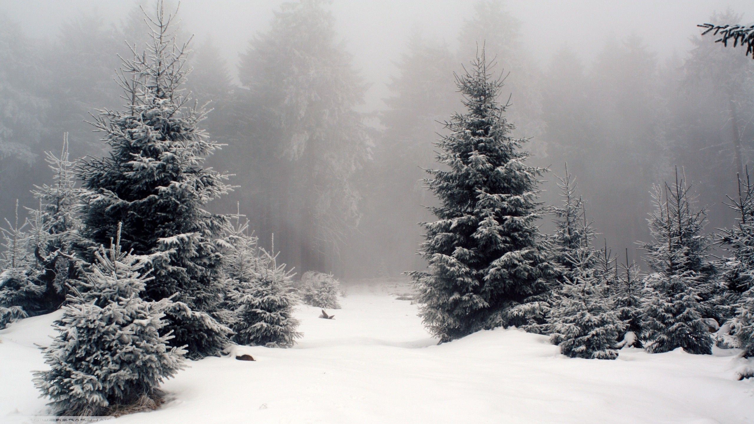
<path fill-rule="evenodd" d="M 690 192 L 679 180 L 655 186 L 656 210 L 649 230 L 654 242 L 642 244 L 652 274 L 645 277 L 642 327 L 650 353 L 683 348 L 693 354 L 711 354 L 713 340 L 703 318 L 700 293 L 709 293 L 705 271 L 709 237 L 703 234 L 704 210 L 694 210 Z M 663 198 L 664 195 L 664 198 Z"/>

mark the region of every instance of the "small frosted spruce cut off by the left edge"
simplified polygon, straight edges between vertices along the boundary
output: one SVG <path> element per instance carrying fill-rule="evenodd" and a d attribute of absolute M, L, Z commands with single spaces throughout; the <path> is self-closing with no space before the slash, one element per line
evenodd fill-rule
<path fill-rule="evenodd" d="M 29 278 L 31 254 L 26 248 L 29 234 L 26 223 L 19 225 L 18 201 L 14 223 L 5 220 L 8 228 L 0 228 L 3 251 L 0 253 L 0 329 L 19 318 L 36 315 L 42 309 L 44 287 Z"/>

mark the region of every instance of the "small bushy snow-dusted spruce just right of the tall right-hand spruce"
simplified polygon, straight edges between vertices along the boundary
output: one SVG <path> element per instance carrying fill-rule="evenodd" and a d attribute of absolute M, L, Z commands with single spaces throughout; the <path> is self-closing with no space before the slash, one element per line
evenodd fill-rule
<path fill-rule="evenodd" d="M 572 272 L 550 311 L 550 343 L 571 358 L 618 358 L 615 346 L 625 324 L 611 299 L 602 296 L 605 282 L 593 266 L 596 251 L 582 249 L 576 254 L 569 257 Z"/>

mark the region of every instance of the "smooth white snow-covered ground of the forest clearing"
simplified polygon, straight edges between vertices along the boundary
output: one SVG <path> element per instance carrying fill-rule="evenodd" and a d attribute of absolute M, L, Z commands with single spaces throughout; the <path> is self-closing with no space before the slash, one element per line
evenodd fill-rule
<path fill-rule="evenodd" d="M 111 422 L 754 422 L 754 382 L 735 379 L 725 352 L 571 359 L 545 336 L 502 329 L 436 346 L 394 289 L 350 291 L 334 320 L 299 306 L 295 348 L 190 362 L 164 384 L 164 407 Z M 0 331 L 0 422 L 44 411 L 31 372 L 57 316 Z"/>

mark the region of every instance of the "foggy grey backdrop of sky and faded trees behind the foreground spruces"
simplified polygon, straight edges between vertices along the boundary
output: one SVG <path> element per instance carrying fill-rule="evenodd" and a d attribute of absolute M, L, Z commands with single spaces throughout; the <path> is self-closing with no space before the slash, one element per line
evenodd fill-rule
<path fill-rule="evenodd" d="M 35 207 L 64 132 L 73 156 L 106 154 L 84 120 L 123 103 L 113 77 L 125 42 L 143 42 L 139 4 L 0 0 L 0 217 L 17 198 Z M 636 260 L 649 190 L 678 166 L 707 229 L 734 222 L 723 201 L 752 158 L 754 60 L 697 24 L 749 23 L 752 2 L 185 1 L 179 18 L 188 89 L 228 144 L 209 164 L 239 186 L 210 207 L 238 202 L 299 275 L 424 266 L 420 167 L 435 166 L 438 121 L 461 109 L 453 72 L 477 45 L 507 75 L 515 134 L 551 168 L 545 204 L 567 162 L 596 229 Z"/>

